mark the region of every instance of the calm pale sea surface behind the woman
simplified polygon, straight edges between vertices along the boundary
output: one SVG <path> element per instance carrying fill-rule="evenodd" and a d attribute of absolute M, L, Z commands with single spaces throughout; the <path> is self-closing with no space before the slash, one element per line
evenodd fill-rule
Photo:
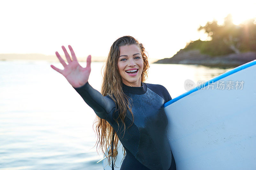
<path fill-rule="evenodd" d="M 103 169 L 94 147 L 95 113 L 47 61 L 0 61 L 0 170 Z M 85 67 L 85 63 L 81 63 Z M 92 62 L 89 83 L 100 90 L 102 62 Z M 184 82 L 208 81 L 229 69 L 151 64 L 147 83 L 161 84 L 172 98 Z"/>

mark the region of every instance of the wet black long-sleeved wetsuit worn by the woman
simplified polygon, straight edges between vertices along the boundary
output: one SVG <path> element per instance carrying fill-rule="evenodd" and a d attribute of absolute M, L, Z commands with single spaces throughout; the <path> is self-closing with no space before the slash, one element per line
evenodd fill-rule
<path fill-rule="evenodd" d="M 97 116 L 108 121 L 126 151 L 121 170 L 176 169 L 176 164 L 167 139 L 167 117 L 164 103 L 171 100 L 168 91 L 162 85 L 141 83 L 141 87 L 123 84 L 124 93 L 132 98 L 129 102 L 134 117 L 127 111 L 124 125 L 118 119 L 116 104 L 109 96 L 102 96 L 87 82 L 74 88 Z M 128 128 L 129 127 L 129 128 Z"/>

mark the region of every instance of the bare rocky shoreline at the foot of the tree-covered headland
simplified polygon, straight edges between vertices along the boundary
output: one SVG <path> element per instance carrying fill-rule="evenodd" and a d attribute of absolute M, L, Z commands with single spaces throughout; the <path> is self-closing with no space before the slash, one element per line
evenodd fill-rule
<path fill-rule="evenodd" d="M 172 58 L 158 60 L 158 64 L 197 64 L 211 67 L 237 67 L 256 59 L 256 52 L 228 54 L 211 57 L 199 50 L 180 50 Z"/>

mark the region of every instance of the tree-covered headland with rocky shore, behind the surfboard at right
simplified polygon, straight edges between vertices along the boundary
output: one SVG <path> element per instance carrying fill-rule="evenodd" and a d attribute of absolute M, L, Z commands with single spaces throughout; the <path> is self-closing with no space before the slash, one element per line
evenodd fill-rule
<path fill-rule="evenodd" d="M 171 58 L 158 60 L 161 64 L 198 64 L 213 67 L 237 67 L 256 59 L 256 19 L 234 25 L 229 14 L 224 25 L 216 20 L 200 26 L 208 41 L 191 41 Z"/>

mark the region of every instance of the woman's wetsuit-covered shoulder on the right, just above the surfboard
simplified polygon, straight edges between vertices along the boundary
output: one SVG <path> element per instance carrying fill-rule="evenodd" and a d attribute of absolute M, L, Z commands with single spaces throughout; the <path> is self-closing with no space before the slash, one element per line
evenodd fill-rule
<path fill-rule="evenodd" d="M 160 84 L 150 84 L 150 83 L 145 83 L 147 88 L 155 92 L 157 95 L 162 97 L 164 99 L 164 102 L 168 102 L 169 100 L 172 100 L 172 97 L 170 96 L 168 90 Z"/>

